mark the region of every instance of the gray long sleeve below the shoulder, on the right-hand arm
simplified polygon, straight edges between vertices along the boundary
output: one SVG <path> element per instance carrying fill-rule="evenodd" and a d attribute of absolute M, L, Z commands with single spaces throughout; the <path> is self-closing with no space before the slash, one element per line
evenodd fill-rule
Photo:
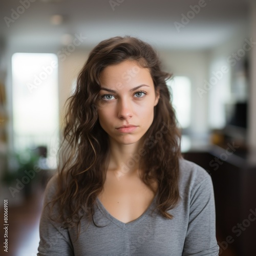
<path fill-rule="evenodd" d="M 208 174 L 193 187 L 189 197 L 188 227 L 182 255 L 217 256 L 214 189 Z"/>

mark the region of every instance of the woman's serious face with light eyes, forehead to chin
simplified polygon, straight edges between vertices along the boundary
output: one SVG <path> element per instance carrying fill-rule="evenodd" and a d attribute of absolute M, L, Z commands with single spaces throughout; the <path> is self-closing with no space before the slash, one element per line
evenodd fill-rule
<path fill-rule="evenodd" d="M 138 142 L 153 122 L 159 99 L 150 71 L 135 60 L 125 60 L 106 67 L 100 73 L 100 84 L 98 116 L 102 129 L 118 143 Z"/>

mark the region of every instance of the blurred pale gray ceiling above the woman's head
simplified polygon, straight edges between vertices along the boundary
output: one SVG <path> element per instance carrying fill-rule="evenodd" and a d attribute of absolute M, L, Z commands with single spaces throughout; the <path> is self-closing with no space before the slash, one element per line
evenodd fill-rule
<path fill-rule="evenodd" d="M 204 7 L 192 11 L 199 3 Z M 13 10 L 20 12 L 15 19 Z M 182 14 L 188 11 L 191 18 L 184 25 Z M 248 13 L 246 0 L 1 0 L 0 38 L 14 46 L 61 46 L 66 34 L 81 34 L 82 46 L 92 47 L 112 36 L 132 35 L 162 48 L 209 49 L 248 29 Z M 54 14 L 63 16 L 60 25 L 51 23 Z M 176 22 L 182 24 L 179 31 Z"/>

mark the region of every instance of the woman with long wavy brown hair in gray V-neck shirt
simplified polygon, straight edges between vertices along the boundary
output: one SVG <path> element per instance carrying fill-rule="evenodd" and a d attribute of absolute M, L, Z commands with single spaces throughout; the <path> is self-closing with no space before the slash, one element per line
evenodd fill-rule
<path fill-rule="evenodd" d="M 218 255 L 211 178 L 181 157 L 168 78 L 137 38 L 91 51 L 69 98 L 38 255 Z"/>

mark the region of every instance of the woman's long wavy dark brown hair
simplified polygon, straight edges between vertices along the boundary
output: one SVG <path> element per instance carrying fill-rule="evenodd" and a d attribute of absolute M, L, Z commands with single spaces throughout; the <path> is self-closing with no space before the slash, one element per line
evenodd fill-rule
<path fill-rule="evenodd" d="M 146 42 L 130 36 L 103 40 L 90 52 L 78 75 L 75 92 L 67 100 L 62 166 L 58 168 L 56 195 L 51 201 L 52 207 L 58 204 L 56 220 L 64 227 L 76 226 L 78 236 L 81 218 L 87 216 L 90 222 L 93 221 L 93 205 L 102 191 L 107 168 L 104 163 L 109 152 L 109 139 L 97 114 L 100 107 L 97 104 L 101 87 L 99 76 L 105 67 L 124 60 L 136 60 L 141 67 L 148 68 L 155 91 L 160 93 L 158 104 L 154 106 L 154 120 L 145 134 L 141 151 L 142 180 L 149 187 L 152 179 L 157 181 L 155 209 L 162 216 L 172 219 L 167 210 L 174 208 L 180 199 L 180 131 L 166 86 L 166 80 L 172 75 L 161 70 L 156 51 Z"/>

